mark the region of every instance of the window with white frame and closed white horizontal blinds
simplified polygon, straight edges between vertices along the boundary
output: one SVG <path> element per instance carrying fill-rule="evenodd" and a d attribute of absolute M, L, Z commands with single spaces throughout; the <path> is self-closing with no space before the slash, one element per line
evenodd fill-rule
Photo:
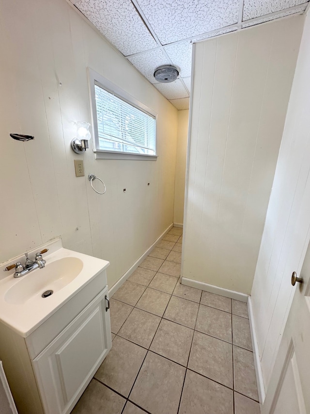
<path fill-rule="evenodd" d="M 156 115 L 89 69 L 96 158 L 156 159 Z"/>

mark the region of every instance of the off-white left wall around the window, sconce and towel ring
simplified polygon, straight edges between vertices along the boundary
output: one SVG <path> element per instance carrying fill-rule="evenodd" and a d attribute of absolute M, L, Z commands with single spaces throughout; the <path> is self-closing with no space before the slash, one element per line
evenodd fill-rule
<path fill-rule="evenodd" d="M 0 10 L 0 262 L 62 236 L 111 262 L 111 286 L 173 221 L 177 111 L 66 1 L 0 0 Z M 95 160 L 92 143 L 71 150 L 73 121 L 92 123 L 88 66 L 158 114 L 157 161 Z"/>

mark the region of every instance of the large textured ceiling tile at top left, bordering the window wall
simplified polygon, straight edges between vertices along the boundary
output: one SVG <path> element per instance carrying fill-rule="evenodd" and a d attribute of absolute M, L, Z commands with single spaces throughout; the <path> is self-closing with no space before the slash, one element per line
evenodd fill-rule
<path fill-rule="evenodd" d="M 75 5 L 125 56 L 157 46 L 130 0 L 80 0 Z"/>

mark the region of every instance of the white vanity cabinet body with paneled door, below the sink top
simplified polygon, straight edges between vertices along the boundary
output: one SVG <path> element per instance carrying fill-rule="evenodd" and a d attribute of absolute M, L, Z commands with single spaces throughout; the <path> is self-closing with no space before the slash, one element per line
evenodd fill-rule
<path fill-rule="evenodd" d="M 0 356 L 19 414 L 72 411 L 111 348 L 108 304 L 104 270 L 27 337 L 0 323 Z"/>

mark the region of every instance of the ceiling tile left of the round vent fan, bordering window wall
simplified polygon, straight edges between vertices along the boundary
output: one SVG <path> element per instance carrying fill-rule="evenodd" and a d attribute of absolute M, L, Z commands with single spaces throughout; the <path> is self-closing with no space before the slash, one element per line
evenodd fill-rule
<path fill-rule="evenodd" d="M 157 83 L 154 78 L 156 67 L 171 65 L 162 49 L 150 50 L 136 56 L 128 57 L 128 60 L 146 77 L 151 83 Z"/>

